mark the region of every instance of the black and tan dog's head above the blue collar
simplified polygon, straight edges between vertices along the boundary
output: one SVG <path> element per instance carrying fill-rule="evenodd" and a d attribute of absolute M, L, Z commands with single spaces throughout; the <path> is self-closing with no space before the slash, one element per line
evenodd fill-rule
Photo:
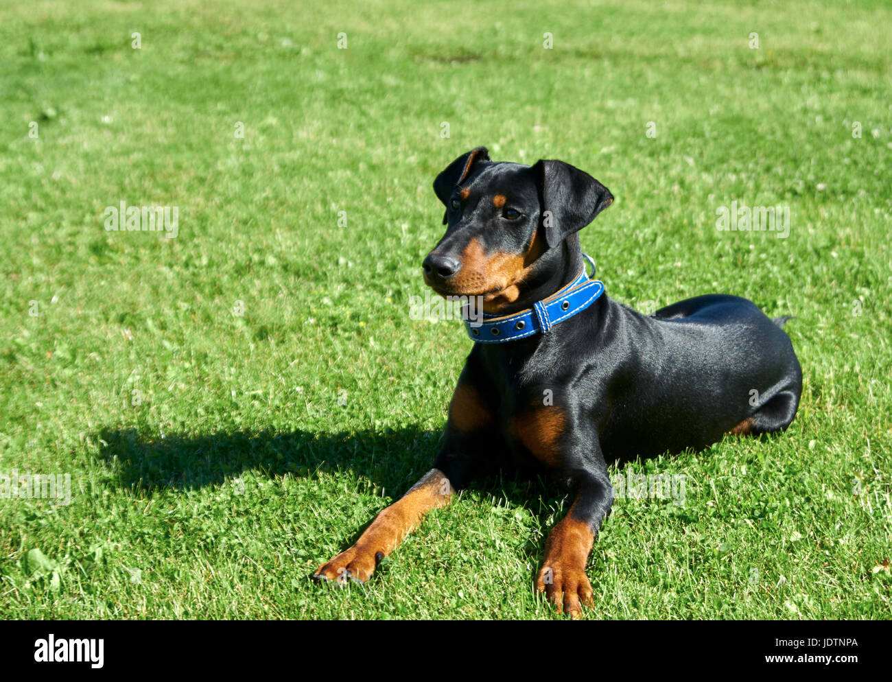
<path fill-rule="evenodd" d="M 486 312 L 518 300 L 562 257 L 564 240 L 613 201 L 607 187 L 564 161 L 495 163 L 485 147 L 452 161 L 434 192 L 448 227 L 425 258 L 425 283 L 442 296 L 483 296 Z"/>

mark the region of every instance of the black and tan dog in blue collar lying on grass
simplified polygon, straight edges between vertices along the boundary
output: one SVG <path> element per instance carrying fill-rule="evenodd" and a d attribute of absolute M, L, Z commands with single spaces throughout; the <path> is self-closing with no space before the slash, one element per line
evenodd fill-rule
<path fill-rule="evenodd" d="M 613 503 L 607 461 L 705 448 L 726 433 L 787 428 L 802 372 L 785 318 L 706 295 L 644 316 L 585 274 L 576 234 L 613 196 L 563 161 L 494 163 L 483 147 L 434 182 L 446 234 L 424 262 L 443 296 L 483 297 L 483 326 L 452 397 L 434 469 L 316 579 L 368 580 L 429 509 L 476 475 L 551 472 L 574 492 L 537 588 L 578 616 L 585 566 Z M 583 291 L 584 290 L 584 291 Z M 566 311 L 561 314 L 561 311 Z M 557 316 L 556 316 L 557 315 Z"/>

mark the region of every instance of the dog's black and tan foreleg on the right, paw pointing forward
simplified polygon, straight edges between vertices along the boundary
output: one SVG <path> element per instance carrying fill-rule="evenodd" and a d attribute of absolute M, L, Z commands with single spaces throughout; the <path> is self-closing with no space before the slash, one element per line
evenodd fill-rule
<path fill-rule="evenodd" d="M 574 502 L 545 542 L 536 589 L 544 591 L 558 611 L 576 619 L 582 615 L 581 604 L 593 604 L 585 564 L 613 504 L 613 486 L 606 466 L 586 467 L 572 472 L 571 477 L 576 490 Z"/>

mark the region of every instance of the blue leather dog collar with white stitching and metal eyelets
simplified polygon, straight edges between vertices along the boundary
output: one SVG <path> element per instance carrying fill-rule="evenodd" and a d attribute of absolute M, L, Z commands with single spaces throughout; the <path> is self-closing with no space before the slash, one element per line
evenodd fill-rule
<path fill-rule="evenodd" d="M 591 275 L 595 275 L 595 263 L 586 254 L 582 258 L 591 263 Z M 467 319 L 465 329 L 471 341 L 476 343 L 505 343 L 516 341 L 534 333 L 548 332 L 551 327 L 591 306 L 604 293 L 604 284 L 589 279 L 585 266 L 573 282 L 554 292 L 547 299 L 537 300 L 533 308 L 506 316 L 483 313 L 483 320 Z"/>

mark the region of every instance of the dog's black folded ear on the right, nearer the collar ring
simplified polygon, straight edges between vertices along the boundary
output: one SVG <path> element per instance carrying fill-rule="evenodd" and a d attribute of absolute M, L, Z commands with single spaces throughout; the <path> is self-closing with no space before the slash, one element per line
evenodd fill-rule
<path fill-rule="evenodd" d="M 613 194 L 585 171 L 564 161 L 540 160 L 533 168 L 542 196 L 545 241 L 553 249 L 613 203 Z"/>

